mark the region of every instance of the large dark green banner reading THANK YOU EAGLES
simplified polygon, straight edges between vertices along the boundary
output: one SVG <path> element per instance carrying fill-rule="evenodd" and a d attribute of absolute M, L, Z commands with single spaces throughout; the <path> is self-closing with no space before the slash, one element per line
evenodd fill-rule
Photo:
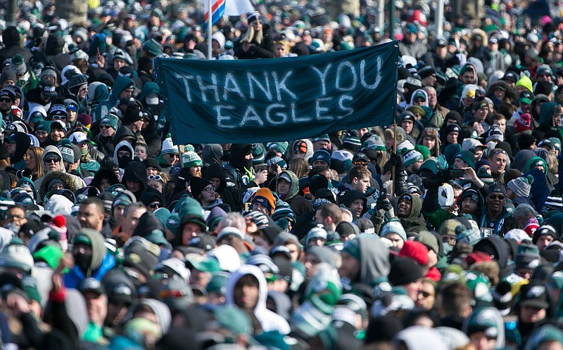
<path fill-rule="evenodd" d="M 175 143 L 290 141 L 393 124 L 396 41 L 265 60 L 156 59 Z"/>

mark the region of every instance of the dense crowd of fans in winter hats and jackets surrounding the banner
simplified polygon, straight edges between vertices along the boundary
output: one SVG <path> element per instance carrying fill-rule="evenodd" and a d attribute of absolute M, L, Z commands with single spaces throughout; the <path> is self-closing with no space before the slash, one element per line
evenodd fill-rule
<path fill-rule="evenodd" d="M 447 4 L 441 36 L 396 3 L 396 125 L 177 145 L 155 58 L 391 41 L 372 4 L 260 4 L 206 38 L 185 4 L 23 1 L 0 23 L 2 349 L 563 349 L 561 24 Z"/>

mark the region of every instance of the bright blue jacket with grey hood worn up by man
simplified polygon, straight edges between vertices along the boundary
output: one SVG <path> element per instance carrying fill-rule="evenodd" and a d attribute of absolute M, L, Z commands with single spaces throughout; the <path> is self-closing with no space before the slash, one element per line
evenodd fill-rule
<path fill-rule="evenodd" d="M 87 235 L 92 247 L 92 259 L 88 271 L 82 271 L 78 266 L 74 266 L 64 276 L 65 287 L 77 288 L 85 278 L 92 277 L 101 280 L 106 273 L 115 266 L 115 259 L 107 251 L 103 235 L 91 228 L 82 228 L 81 234 Z"/>

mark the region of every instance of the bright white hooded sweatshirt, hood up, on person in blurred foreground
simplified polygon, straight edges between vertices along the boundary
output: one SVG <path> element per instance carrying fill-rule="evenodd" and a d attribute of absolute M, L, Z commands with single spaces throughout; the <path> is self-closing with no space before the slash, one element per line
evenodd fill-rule
<path fill-rule="evenodd" d="M 291 332 L 289 323 L 266 308 L 266 299 L 268 295 L 266 279 L 264 273 L 258 266 L 243 265 L 238 270 L 234 271 L 227 280 L 227 294 L 225 295 L 226 305 L 235 305 L 234 303 L 234 287 L 239 280 L 246 275 L 252 275 L 258 280 L 258 303 L 254 307 L 254 315 L 260 321 L 262 330 L 264 332 L 279 331 L 282 335 L 287 335 Z"/>

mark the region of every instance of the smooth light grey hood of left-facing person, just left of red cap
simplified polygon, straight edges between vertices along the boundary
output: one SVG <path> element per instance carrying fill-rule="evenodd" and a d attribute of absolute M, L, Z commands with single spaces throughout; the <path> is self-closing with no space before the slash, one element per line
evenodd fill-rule
<path fill-rule="evenodd" d="M 376 235 L 359 235 L 355 240 L 360 247 L 360 282 L 374 285 L 391 271 L 389 249 Z"/>

